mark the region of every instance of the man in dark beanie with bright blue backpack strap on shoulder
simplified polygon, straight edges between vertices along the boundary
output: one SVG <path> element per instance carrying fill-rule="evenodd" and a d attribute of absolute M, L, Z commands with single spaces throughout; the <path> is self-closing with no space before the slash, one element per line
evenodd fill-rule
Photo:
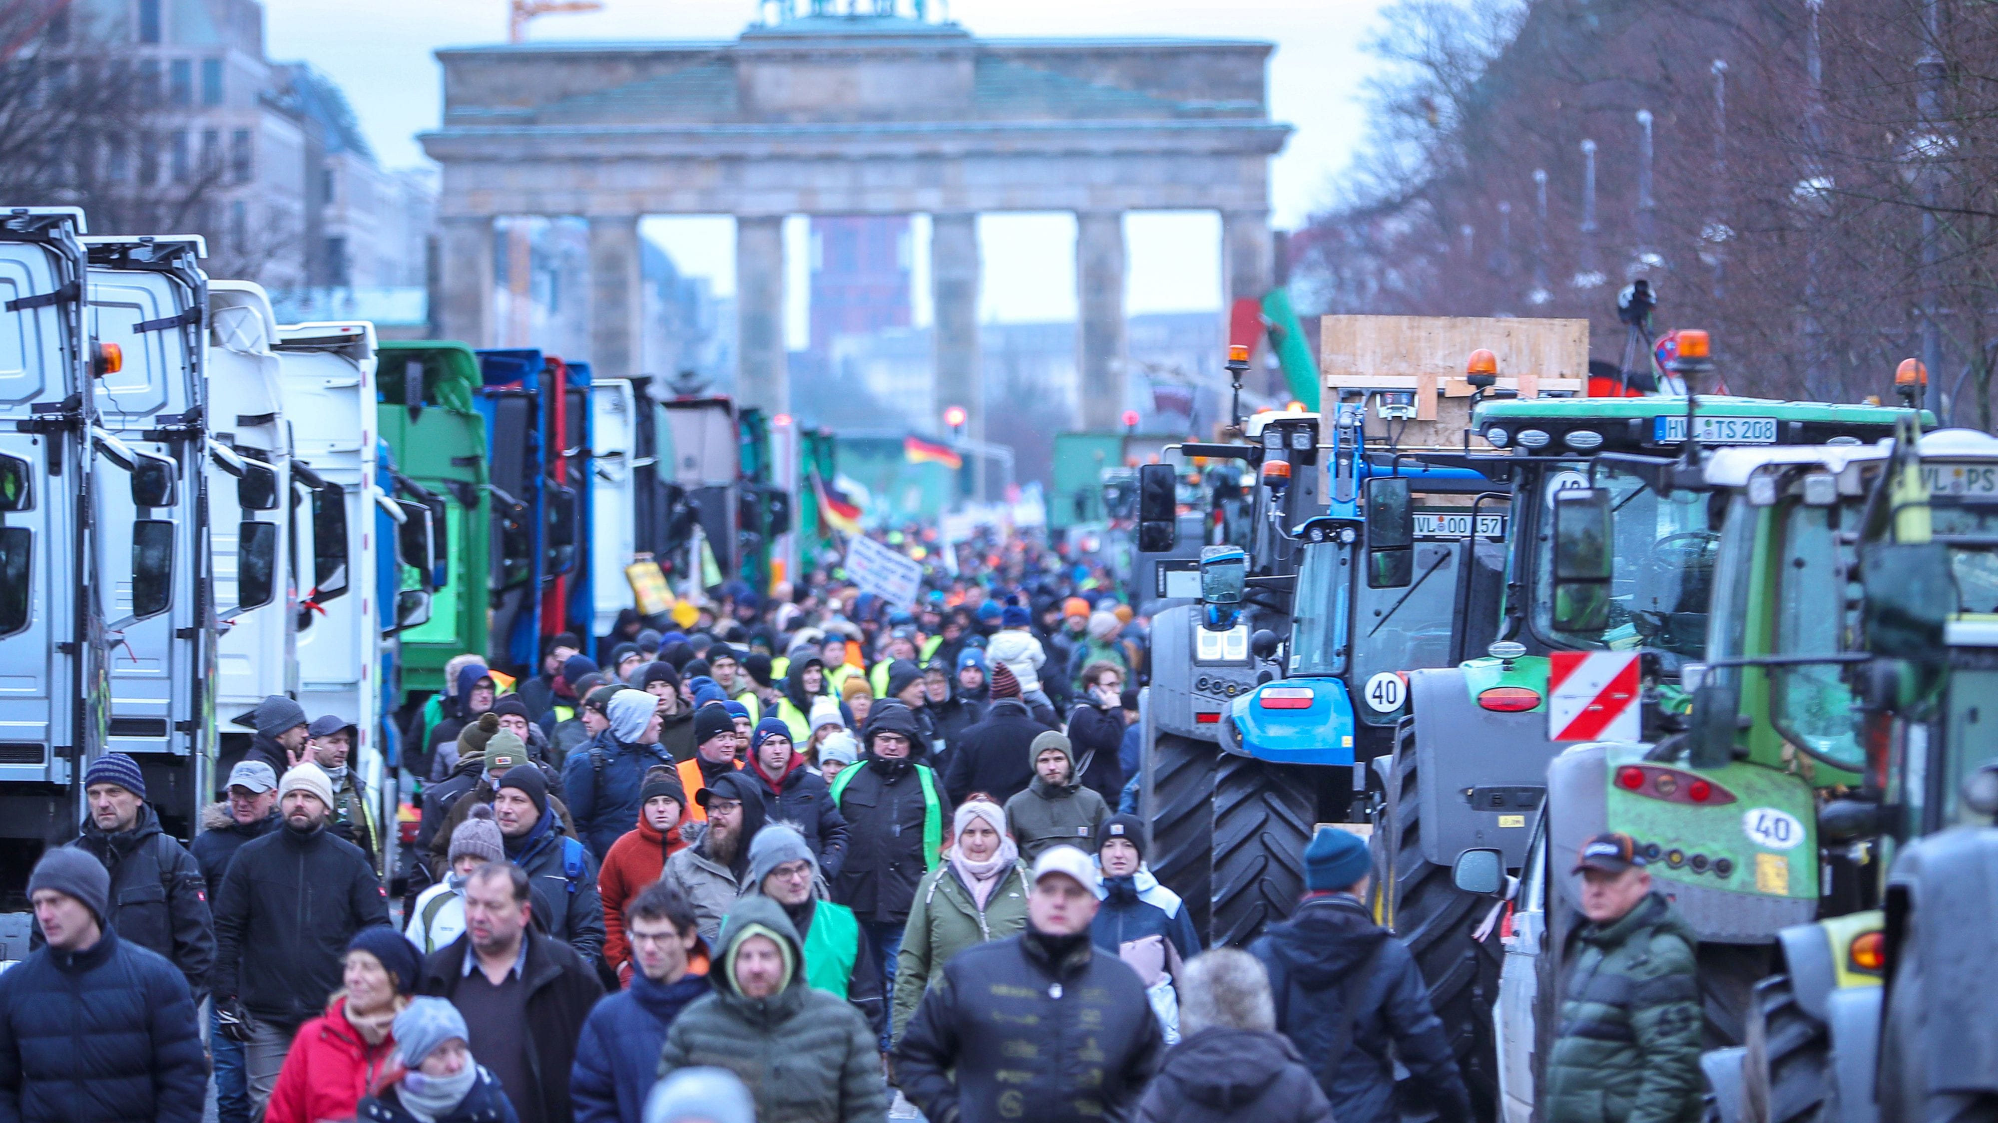
<path fill-rule="evenodd" d="M 603 901 L 597 859 L 549 813 L 547 781 L 533 767 L 509 767 L 494 787 L 494 821 L 507 861 L 527 873 L 535 915 L 547 935 L 591 963 L 603 957 Z"/>

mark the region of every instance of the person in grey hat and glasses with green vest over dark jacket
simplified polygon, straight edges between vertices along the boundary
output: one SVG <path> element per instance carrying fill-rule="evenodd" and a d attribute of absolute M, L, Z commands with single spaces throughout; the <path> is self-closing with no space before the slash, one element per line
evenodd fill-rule
<path fill-rule="evenodd" d="M 777 901 L 791 919 L 805 947 L 805 981 L 853 1003 L 879 1035 L 887 1029 L 879 959 L 853 909 L 821 901 L 819 885 L 817 859 L 789 823 L 769 823 L 749 839 L 749 893 Z M 721 931 L 727 927 L 723 917 Z"/>

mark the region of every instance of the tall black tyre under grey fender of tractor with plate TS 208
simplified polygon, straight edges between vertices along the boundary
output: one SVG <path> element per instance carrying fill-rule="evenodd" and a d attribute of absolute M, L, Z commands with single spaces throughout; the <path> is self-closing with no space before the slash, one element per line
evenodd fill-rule
<path fill-rule="evenodd" d="M 1375 919 L 1415 955 L 1429 1005 L 1457 1055 L 1471 1089 L 1473 1117 L 1491 1119 L 1498 1103 L 1498 1051 L 1493 1003 L 1504 965 L 1498 933 L 1473 933 L 1493 909 L 1491 897 L 1473 897 L 1451 883 L 1451 867 L 1423 857 L 1421 777 L 1415 767 L 1415 729 L 1395 737 L 1395 751 L 1375 757 L 1381 779 L 1381 817 L 1373 833 Z"/>

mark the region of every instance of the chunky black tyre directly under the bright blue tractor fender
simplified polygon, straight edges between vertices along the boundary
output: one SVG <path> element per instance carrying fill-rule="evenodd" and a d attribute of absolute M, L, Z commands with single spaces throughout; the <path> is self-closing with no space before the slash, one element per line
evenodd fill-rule
<path fill-rule="evenodd" d="M 1223 753 L 1215 763 L 1209 947 L 1243 947 L 1291 915 L 1305 891 L 1317 811 L 1309 769 Z"/>

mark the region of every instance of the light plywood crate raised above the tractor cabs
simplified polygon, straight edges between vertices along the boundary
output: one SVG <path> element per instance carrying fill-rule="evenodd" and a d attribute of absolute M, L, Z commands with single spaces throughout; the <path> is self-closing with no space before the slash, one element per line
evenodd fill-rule
<path fill-rule="evenodd" d="M 1415 420 L 1395 424 L 1399 446 L 1463 448 L 1471 428 L 1471 352 L 1498 356 L 1498 386 L 1520 398 L 1588 394 L 1588 320 L 1498 320 L 1481 316 L 1325 316 L 1319 370 L 1325 408 L 1363 402 L 1377 390 L 1415 392 Z M 1389 424 L 1367 410 L 1367 436 Z M 1471 438 L 1473 448 L 1491 448 Z"/>

